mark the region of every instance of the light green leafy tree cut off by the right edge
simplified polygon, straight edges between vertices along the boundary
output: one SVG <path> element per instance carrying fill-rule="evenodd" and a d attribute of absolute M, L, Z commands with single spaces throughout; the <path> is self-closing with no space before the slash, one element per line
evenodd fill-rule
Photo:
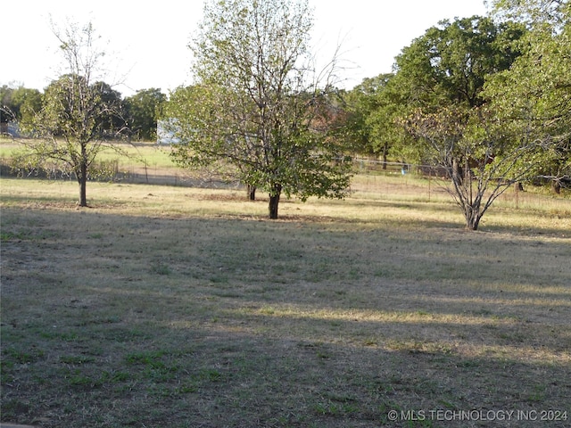
<path fill-rule="evenodd" d="M 525 54 L 486 86 L 503 126 L 517 141 L 544 151 L 522 160 L 553 190 L 571 183 L 571 4 L 567 1 L 497 1 L 497 14 L 523 21 L 530 31 Z"/>

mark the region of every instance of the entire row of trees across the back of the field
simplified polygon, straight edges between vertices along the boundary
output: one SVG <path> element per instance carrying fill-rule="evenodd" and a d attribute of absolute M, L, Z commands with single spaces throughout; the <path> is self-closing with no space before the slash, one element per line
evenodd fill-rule
<path fill-rule="evenodd" d="M 90 24 L 56 34 L 69 73 L 44 94 L 4 86 L 2 99 L 43 137 L 29 148 L 69 161 L 80 188 L 105 138 L 153 137 L 162 118 L 179 141 L 173 161 L 224 169 L 251 198 L 268 193 L 270 218 L 283 193 L 342 198 L 351 156 L 364 153 L 443 171 L 476 230 L 509 186 L 571 181 L 570 17 L 567 0 L 494 0 L 490 16 L 439 22 L 393 72 L 347 90 L 341 58 L 316 65 L 307 0 L 206 0 L 189 45 L 194 83 L 168 101 L 157 89 L 121 100 L 91 82 Z"/>

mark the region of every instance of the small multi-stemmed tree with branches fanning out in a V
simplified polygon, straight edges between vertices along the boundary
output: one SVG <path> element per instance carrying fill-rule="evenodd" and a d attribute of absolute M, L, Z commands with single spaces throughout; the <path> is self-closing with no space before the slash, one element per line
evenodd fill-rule
<path fill-rule="evenodd" d="M 451 104 L 430 113 L 418 109 L 405 128 L 421 139 L 430 156 L 427 161 L 445 171 L 451 181 L 445 188 L 471 230 L 477 230 L 492 202 L 529 176 L 534 163 L 522 160 L 542 148 L 528 140 L 513 144 L 486 106 L 467 109 Z"/>

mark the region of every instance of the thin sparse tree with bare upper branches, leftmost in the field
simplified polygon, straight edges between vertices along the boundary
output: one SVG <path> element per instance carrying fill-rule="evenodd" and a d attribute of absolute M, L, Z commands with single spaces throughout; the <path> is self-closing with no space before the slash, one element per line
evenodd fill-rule
<path fill-rule="evenodd" d="M 42 109 L 33 121 L 40 138 L 25 145 L 37 165 L 54 161 L 73 172 L 79 183 L 79 205 L 85 207 L 88 169 L 99 152 L 113 147 L 103 143 L 103 129 L 111 127 L 115 136 L 122 130 L 116 121 L 118 94 L 97 79 L 103 52 L 97 49 L 90 23 L 70 24 L 64 32 L 54 29 L 54 35 L 68 73 L 46 87 Z"/>

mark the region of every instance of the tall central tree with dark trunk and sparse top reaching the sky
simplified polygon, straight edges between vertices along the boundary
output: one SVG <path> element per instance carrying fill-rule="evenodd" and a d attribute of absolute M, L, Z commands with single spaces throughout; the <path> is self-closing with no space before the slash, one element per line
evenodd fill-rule
<path fill-rule="evenodd" d="M 305 0 L 211 0 L 194 43 L 194 86 L 171 97 L 186 166 L 225 161 L 250 188 L 280 195 L 343 197 L 350 162 L 329 137 L 335 67 L 311 68 L 311 13 Z M 335 60 L 333 62 L 335 64 Z"/>

